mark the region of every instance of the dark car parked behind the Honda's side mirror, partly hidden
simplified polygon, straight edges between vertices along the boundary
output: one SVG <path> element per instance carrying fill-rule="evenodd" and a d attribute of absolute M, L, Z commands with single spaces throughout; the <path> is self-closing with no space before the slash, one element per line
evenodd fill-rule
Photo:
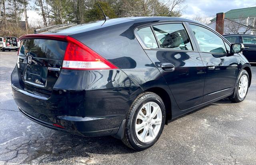
<path fill-rule="evenodd" d="M 244 44 L 242 54 L 251 63 L 256 63 L 256 36 L 250 34 L 226 34 L 223 35 L 230 43 Z"/>

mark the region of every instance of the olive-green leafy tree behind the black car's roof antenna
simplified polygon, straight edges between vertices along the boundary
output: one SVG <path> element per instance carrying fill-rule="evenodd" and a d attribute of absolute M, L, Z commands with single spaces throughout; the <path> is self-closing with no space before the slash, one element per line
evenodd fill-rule
<path fill-rule="evenodd" d="M 109 18 L 117 18 L 114 9 L 107 2 L 97 1 L 94 3 L 93 7 L 86 12 L 85 22 L 102 20 L 104 18 L 98 3 L 100 4 L 106 16 Z"/>

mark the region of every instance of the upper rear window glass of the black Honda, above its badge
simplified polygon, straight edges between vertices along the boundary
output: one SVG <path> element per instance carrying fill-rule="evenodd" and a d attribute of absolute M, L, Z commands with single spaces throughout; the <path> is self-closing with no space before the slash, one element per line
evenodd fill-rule
<path fill-rule="evenodd" d="M 20 47 L 20 56 L 28 52 L 35 58 L 63 59 L 67 42 L 45 39 L 23 40 Z"/>

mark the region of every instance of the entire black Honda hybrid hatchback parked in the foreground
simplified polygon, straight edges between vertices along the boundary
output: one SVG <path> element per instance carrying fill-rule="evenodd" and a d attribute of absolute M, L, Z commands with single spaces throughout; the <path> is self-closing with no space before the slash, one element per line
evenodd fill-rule
<path fill-rule="evenodd" d="M 135 150 L 151 147 L 168 119 L 243 101 L 252 77 L 242 44 L 182 18 L 116 18 L 20 40 L 11 81 L 23 115 Z"/>

